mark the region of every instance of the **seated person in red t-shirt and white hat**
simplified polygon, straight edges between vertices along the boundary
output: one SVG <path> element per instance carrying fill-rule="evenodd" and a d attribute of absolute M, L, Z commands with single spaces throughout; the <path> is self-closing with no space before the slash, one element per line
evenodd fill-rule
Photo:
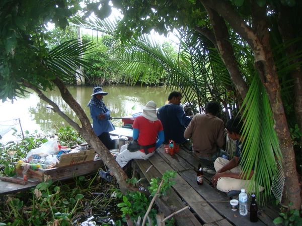
<path fill-rule="evenodd" d="M 137 139 L 138 144 L 145 150 L 130 152 L 127 150 L 127 145 L 123 145 L 116 157 L 120 167 L 124 167 L 131 159 L 148 159 L 164 142 L 163 125 L 157 117 L 156 103 L 152 100 L 142 107 L 142 114 L 135 118 L 132 127 L 133 139 Z M 113 173 L 110 170 L 108 172 L 100 170 L 99 175 L 108 182 L 113 179 Z"/>

